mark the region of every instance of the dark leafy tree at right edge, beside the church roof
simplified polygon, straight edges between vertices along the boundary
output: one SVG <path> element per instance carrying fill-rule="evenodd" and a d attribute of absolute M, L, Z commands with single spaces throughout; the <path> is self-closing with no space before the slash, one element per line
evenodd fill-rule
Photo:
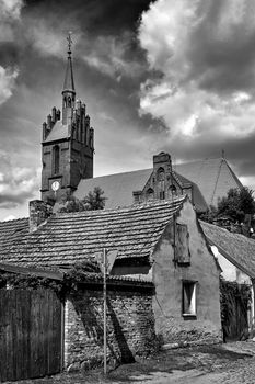
<path fill-rule="evenodd" d="M 216 216 L 227 216 L 234 222 L 243 223 L 246 214 L 254 213 L 253 191 L 243 187 L 229 190 L 228 195 L 219 201 Z"/>

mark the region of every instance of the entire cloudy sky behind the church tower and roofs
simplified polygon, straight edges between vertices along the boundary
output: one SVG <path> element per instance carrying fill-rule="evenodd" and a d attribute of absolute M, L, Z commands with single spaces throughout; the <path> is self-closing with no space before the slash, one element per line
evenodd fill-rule
<path fill-rule="evenodd" d="M 254 0 L 0 0 L 0 219 L 39 197 L 42 123 L 73 31 L 95 176 L 225 157 L 255 188 Z"/>

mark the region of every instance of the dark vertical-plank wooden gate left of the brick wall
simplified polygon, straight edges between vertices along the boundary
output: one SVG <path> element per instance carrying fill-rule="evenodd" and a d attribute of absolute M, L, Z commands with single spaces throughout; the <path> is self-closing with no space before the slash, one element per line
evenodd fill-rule
<path fill-rule="evenodd" d="M 49 290 L 0 290 L 0 382 L 61 370 L 62 306 Z"/>

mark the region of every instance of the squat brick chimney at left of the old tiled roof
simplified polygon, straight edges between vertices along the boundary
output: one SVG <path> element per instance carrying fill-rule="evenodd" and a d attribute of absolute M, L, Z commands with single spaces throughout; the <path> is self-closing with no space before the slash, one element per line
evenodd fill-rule
<path fill-rule="evenodd" d="M 42 200 L 30 202 L 30 231 L 35 231 L 53 214 L 53 206 Z"/>

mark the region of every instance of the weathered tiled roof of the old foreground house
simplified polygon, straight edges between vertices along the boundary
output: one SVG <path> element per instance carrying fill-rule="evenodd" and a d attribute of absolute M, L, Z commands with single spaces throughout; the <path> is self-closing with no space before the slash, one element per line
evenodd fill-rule
<path fill-rule="evenodd" d="M 1 237 L 0 261 L 25 267 L 70 266 L 103 248 L 117 249 L 119 259 L 148 258 L 149 261 L 165 226 L 185 200 L 54 215 L 14 244 Z"/>

